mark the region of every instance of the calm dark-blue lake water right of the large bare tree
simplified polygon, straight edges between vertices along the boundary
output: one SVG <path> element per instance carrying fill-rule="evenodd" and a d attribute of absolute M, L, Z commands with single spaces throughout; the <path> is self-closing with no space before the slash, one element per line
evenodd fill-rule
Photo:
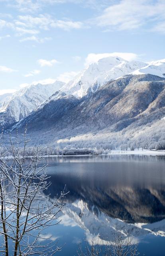
<path fill-rule="evenodd" d="M 49 157 L 51 197 L 66 184 L 61 223 L 47 232 L 63 245 L 60 256 L 77 255 L 84 238 L 112 240 L 120 227 L 138 243 L 141 255 L 164 255 L 165 156 Z"/>

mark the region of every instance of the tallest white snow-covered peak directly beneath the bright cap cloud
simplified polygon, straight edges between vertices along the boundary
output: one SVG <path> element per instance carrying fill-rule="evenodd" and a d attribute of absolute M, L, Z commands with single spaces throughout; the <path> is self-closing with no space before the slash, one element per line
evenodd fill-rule
<path fill-rule="evenodd" d="M 65 84 L 61 90 L 67 94 L 82 97 L 89 88 L 92 91 L 96 91 L 106 82 L 129 74 L 146 65 L 146 63 L 139 61 L 128 62 L 119 57 L 102 58 L 81 71 L 73 80 Z"/>

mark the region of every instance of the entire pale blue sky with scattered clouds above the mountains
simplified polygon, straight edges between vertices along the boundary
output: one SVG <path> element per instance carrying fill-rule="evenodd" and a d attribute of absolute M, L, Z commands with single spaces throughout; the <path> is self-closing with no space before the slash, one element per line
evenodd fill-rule
<path fill-rule="evenodd" d="M 0 0 L 0 94 L 67 82 L 104 53 L 163 59 L 164 45 L 165 0 Z"/>

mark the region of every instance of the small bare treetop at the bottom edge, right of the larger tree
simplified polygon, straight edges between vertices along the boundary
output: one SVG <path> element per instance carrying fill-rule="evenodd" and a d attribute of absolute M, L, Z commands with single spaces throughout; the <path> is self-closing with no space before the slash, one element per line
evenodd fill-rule
<path fill-rule="evenodd" d="M 112 232 L 112 240 L 93 238 L 91 244 L 85 240 L 85 248 L 79 245 L 78 256 L 138 256 L 137 244 L 130 232 L 121 232 L 118 226 Z"/>

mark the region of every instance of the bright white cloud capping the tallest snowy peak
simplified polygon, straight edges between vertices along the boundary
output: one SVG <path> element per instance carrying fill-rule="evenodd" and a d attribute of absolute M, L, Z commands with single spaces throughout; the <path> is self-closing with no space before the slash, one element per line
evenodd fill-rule
<path fill-rule="evenodd" d="M 135 53 L 131 52 L 112 52 L 112 53 L 90 53 L 85 59 L 85 67 L 88 67 L 90 64 L 98 62 L 98 60 L 110 56 L 118 56 L 120 58 L 123 58 L 124 60 L 132 61 L 132 60 L 137 60 L 139 57 Z"/>

